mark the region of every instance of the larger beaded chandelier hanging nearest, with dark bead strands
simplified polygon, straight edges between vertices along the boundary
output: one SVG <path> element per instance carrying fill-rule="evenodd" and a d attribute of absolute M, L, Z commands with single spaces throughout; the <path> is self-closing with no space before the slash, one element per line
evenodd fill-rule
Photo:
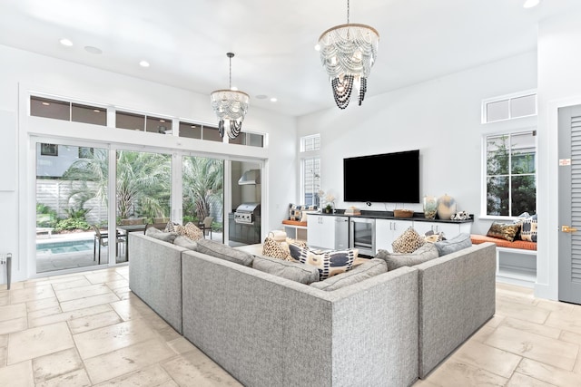
<path fill-rule="evenodd" d="M 349 105 L 353 86 L 359 90 L 359 105 L 367 92 L 367 79 L 378 52 L 379 33 L 365 24 L 335 25 L 320 35 L 320 62 L 329 74 L 335 102 L 340 109 Z"/>

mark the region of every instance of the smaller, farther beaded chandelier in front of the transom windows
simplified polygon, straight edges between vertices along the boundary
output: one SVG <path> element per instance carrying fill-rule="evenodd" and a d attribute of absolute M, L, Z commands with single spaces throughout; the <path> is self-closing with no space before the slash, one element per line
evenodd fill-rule
<path fill-rule="evenodd" d="M 251 97 L 237 90 L 232 90 L 232 58 L 234 53 L 226 53 L 230 58 L 230 84 L 229 89 L 213 91 L 210 94 L 212 109 L 218 116 L 218 131 L 224 137 L 224 131 L 228 132 L 228 137 L 235 139 L 242 129 L 242 121 L 248 111 Z"/>

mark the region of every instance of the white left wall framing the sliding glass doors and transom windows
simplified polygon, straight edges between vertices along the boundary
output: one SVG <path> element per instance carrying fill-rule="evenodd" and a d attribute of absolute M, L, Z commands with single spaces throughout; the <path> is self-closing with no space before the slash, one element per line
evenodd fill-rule
<path fill-rule="evenodd" d="M 263 184 L 263 190 L 268 193 L 264 197 L 266 205 L 262 208 L 263 218 L 266 218 L 264 233 L 280 227 L 287 204 L 295 201 L 296 176 L 295 169 L 291 168 L 296 163 L 297 149 L 294 118 L 251 106 L 244 121 L 244 129 L 267 133 L 266 150 L 172 136 L 160 139 L 160 136 L 143 136 L 147 133 L 142 132 L 94 129 L 86 124 L 44 120 L 26 115 L 27 92 L 50 93 L 173 118 L 210 123 L 216 119 L 206 94 L 146 82 L 2 45 L 0 63 L 3 70 L 0 72 L 0 118 L 3 119 L 4 132 L 3 141 L 0 141 L 0 162 L 17 171 L 17 178 L 9 172 L 3 171 L 0 174 L 0 178 L 7 179 L 7 183 L 0 186 L 0 216 L 3 219 L 0 226 L 0 253 L 13 253 L 13 281 L 34 276 L 27 266 L 28 261 L 34 259 L 31 257 L 34 252 L 34 207 L 27 206 L 30 198 L 34 197 L 34 185 L 30 178 L 26 178 L 31 170 L 34 171 L 34 168 L 31 169 L 34 157 L 28 140 L 31 133 L 102 142 L 114 139 L 128 144 L 266 160 L 268 180 L 263 181 L 269 181 L 269 184 Z M 268 210 L 269 203 L 273 208 L 271 211 Z M 0 284 L 5 283 L 3 269 L 0 267 Z"/>

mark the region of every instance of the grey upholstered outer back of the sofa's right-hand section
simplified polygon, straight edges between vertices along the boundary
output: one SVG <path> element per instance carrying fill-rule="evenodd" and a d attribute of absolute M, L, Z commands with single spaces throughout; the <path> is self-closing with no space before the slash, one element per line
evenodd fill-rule
<path fill-rule="evenodd" d="M 496 246 L 440 256 L 419 270 L 419 377 L 424 378 L 496 310 Z"/>

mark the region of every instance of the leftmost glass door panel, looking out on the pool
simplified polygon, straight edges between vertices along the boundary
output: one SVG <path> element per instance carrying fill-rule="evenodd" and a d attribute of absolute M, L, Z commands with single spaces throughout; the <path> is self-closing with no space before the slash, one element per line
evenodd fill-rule
<path fill-rule="evenodd" d="M 36 273 L 107 263 L 108 155 L 36 142 Z"/>

